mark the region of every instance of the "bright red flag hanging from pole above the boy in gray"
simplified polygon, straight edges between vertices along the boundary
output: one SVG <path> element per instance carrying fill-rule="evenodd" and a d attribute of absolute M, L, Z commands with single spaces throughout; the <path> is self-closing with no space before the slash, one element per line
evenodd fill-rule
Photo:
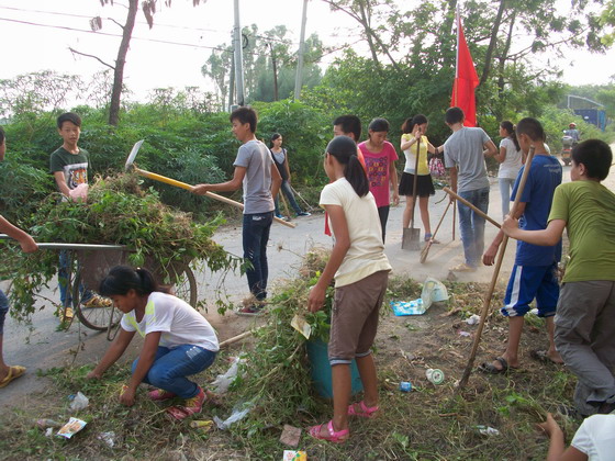
<path fill-rule="evenodd" d="M 477 100 L 474 88 L 479 86 L 479 76 L 474 69 L 474 63 L 470 49 L 466 43 L 461 18 L 457 12 L 457 63 L 455 67 L 455 82 L 452 83 L 452 95 L 450 106 L 460 108 L 466 115 L 463 125 L 477 126 Z"/>

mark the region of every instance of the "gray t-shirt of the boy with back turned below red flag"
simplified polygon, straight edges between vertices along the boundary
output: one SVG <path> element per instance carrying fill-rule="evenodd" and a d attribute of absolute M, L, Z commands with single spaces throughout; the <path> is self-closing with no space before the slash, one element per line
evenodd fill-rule
<path fill-rule="evenodd" d="M 444 143 L 446 168 L 459 166 L 457 192 L 489 188 L 484 144 L 491 140 L 482 128 L 462 127 Z"/>

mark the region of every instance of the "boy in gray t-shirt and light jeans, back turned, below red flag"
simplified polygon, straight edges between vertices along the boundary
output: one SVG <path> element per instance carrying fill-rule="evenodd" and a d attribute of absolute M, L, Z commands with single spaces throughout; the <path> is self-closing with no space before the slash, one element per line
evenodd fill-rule
<path fill-rule="evenodd" d="M 487 214 L 489 179 L 484 156 L 496 154 L 497 148 L 482 128 L 466 127 L 463 120 L 461 109 L 449 108 L 446 111 L 445 121 L 452 131 L 452 135 L 444 144 L 450 189 Z M 484 218 L 462 203 L 457 206 L 466 261 L 450 270 L 473 271 L 479 266 L 484 249 Z"/>

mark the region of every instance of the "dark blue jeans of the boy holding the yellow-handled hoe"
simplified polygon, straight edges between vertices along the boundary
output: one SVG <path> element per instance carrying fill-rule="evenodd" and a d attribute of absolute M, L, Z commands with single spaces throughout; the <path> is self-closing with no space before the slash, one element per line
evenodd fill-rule
<path fill-rule="evenodd" d="M 273 212 L 244 214 L 243 243 L 244 259 L 251 268 L 246 270 L 250 293 L 258 301 L 267 297 L 267 279 L 269 267 L 267 265 L 267 241 L 273 222 Z"/>

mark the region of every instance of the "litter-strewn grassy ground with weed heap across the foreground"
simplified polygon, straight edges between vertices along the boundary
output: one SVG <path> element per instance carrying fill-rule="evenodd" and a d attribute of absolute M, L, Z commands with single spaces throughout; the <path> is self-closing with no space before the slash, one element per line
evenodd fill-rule
<path fill-rule="evenodd" d="M 288 447 L 279 442 L 284 424 L 305 428 L 332 416 L 331 402 L 316 396 L 309 376 L 309 361 L 300 335 L 289 326 L 303 308 L 306 290 L 322 267 L 318 254 L 310 254 L 300 278 L 281 286 L 271 300 L 267 326 L 253 340 L 223 350 L 214 366 L 197 376 L 208 383 L 225 371 L 231 357 L 245 355 L 242 378 L 232 385 L 222 406 L 206 407 L 198 419 L 225 419 L 233 408 L 249 403 L 251 412 L 230 430 L 203 431 L 189 421 L 171 423 L 165 417 L 167 404 L 155 404 L 141 389 L 132 408 L 118 402 L 130 364 L 110 369 L 102 381 L 85 379 L 91 367 L 52 369 L 46 374 L 54 385 L 30 397 L 29 404 L 4 412 L 0 452 L 4 459 L 188 459 L 188 460 L 279 460 Z M 376 344 L 381 414 L 369 420 L 350 421 L 351 439 L 335 446 L 303 434 L 299 448 L 314 460 L 518 460 L 544 459 L 547 439 L 535 424 L 558 405 L 571 404 L 574 378 L 563 368 L 533 361 L 527 351 L 546 342 L 541 328 L 526 328 L 522 337 L 522 368 L 507 375 L 474 372 L 468 386 L 455 387 L 470 353 L 476 326 L 462 321 L 479 313 L 485 285 L 446 283 L 450 301 L 431 307 L 417 317 L 390 315 L 388 303 Z M 389 297 L 407 301 L 421 294 L 421 284 L 392 278 Z M 502 291 L 494 294 L 492 311 L 501 304 Z M 318 324 L 322 318 L 313 318 Z M 322 326 L 322 325 L 321 325 Z M 477 362 L 501 352 L 507 321 L 490 315 L 482 335 Z M 425 378 L 427 368 L 445 372 L 443 385 Z M 413 391 L 399 391 L 400 381 L 410 381 Z M 142 386 L 144 387 L 144 386 Z M 68 409 L 68 394 L 81 391 L 90 406 L 77 414 Z M 359 396 L 360 397 L 360 396 Z M 171 402 L 172 404 L 172 402 Z M 69 416 L 88 420 L 87 428 L 71 440 L 45 437 L 34 420 L 66 421 Z M 579 421 L 558 417 L 569 439 Z M 500 431 L 484 436 L 478 426 Z M 99 438 L 113 432 L 115 446 Z"/>

